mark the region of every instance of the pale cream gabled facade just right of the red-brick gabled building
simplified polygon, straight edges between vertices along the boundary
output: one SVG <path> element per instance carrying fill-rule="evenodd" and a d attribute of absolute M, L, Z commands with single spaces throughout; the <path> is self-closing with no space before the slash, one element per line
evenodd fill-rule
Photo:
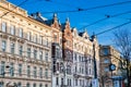
<path fill-rule="evenodd" d="M 92 87 L 94 78 L 94 50 L 93 41 L 87 32 L 78 33 L 72 29 L 73 35 L 73 87 Z M 97 76 L 99 71 L 98 42 L 94 39 Z"/>

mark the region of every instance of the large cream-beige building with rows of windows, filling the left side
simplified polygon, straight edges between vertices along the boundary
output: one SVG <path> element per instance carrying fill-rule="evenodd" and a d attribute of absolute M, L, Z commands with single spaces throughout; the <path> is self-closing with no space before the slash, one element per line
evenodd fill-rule
<path fill-rule="evenodd" d="M 0 0 L 0 87 L 51 87 L 51 32 Z"/>

